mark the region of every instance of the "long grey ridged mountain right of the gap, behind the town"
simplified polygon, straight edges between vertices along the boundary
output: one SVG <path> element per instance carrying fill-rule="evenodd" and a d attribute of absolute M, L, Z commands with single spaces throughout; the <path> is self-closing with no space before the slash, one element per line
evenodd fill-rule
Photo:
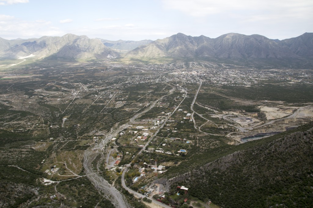
<path fill-rule="evenodd" d="M 177 33 L 140 46 L 126 57 L 301 58 L 312 57 L 313 33 L 283 41 L 228 33 L 217 38 Z"/>

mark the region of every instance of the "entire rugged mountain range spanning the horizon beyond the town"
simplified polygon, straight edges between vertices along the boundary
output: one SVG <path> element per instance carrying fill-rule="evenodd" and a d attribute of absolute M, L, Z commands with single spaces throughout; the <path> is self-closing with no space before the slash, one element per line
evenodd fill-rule
<path fill-rule="evenodd" d="M 122 54 L 121 52 L 127 52 Z M 261 35 L 228 33 L 217 38 L 192 37 L 177 33 L 156 41 L 108 41 L 87 36 L 66 34 L 62 37 L 5 40 L 0 38 L 0 58 L 15 59 L 35 56 L 50 59 L 106 59 L 141 60 L 163 57 L 198 58 L 207 60 L 268 60 L 307 63 L 313 66 L 313 33 L 304 33 L 285 40 L 269 39 Z"/>

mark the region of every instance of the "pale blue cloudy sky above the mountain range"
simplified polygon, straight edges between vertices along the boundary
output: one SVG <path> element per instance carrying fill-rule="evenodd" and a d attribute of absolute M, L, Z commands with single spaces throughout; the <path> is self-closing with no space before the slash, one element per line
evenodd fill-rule
<path fill-rule="evenodd" d="M 0 0 L 0 37 L 162 39 L 235 32 L 271 39 L 313 32 L 313 0 Z"/>

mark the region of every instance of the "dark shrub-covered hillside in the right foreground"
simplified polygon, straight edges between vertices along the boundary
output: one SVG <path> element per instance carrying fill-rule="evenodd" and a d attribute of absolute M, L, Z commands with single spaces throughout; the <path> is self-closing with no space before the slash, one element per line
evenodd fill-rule
<path fill-rule="evenodd" d="M 313 128 L 275 138 L 250 143 L 169 182 L 223 207 L 311 207 Z"/>

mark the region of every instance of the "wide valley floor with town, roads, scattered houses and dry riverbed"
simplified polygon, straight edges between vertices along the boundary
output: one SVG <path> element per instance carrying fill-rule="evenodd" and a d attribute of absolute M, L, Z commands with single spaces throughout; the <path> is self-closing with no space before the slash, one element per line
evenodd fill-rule
<path fill-rule="evenodd" d="M 66 181 L 88 177 L 110 197 L 124 188 L 161 205 L 218 207 L 165 179 L 197 152 L 265 138 L 313 116 L 309 70 L 48 62 L 27 76 L 1 73 L 1 129 L 26 135 L 18 145 L 42 154 L 36 170 L 57 191 L 49 197 L 70 206 L 77 203 Z"/>

